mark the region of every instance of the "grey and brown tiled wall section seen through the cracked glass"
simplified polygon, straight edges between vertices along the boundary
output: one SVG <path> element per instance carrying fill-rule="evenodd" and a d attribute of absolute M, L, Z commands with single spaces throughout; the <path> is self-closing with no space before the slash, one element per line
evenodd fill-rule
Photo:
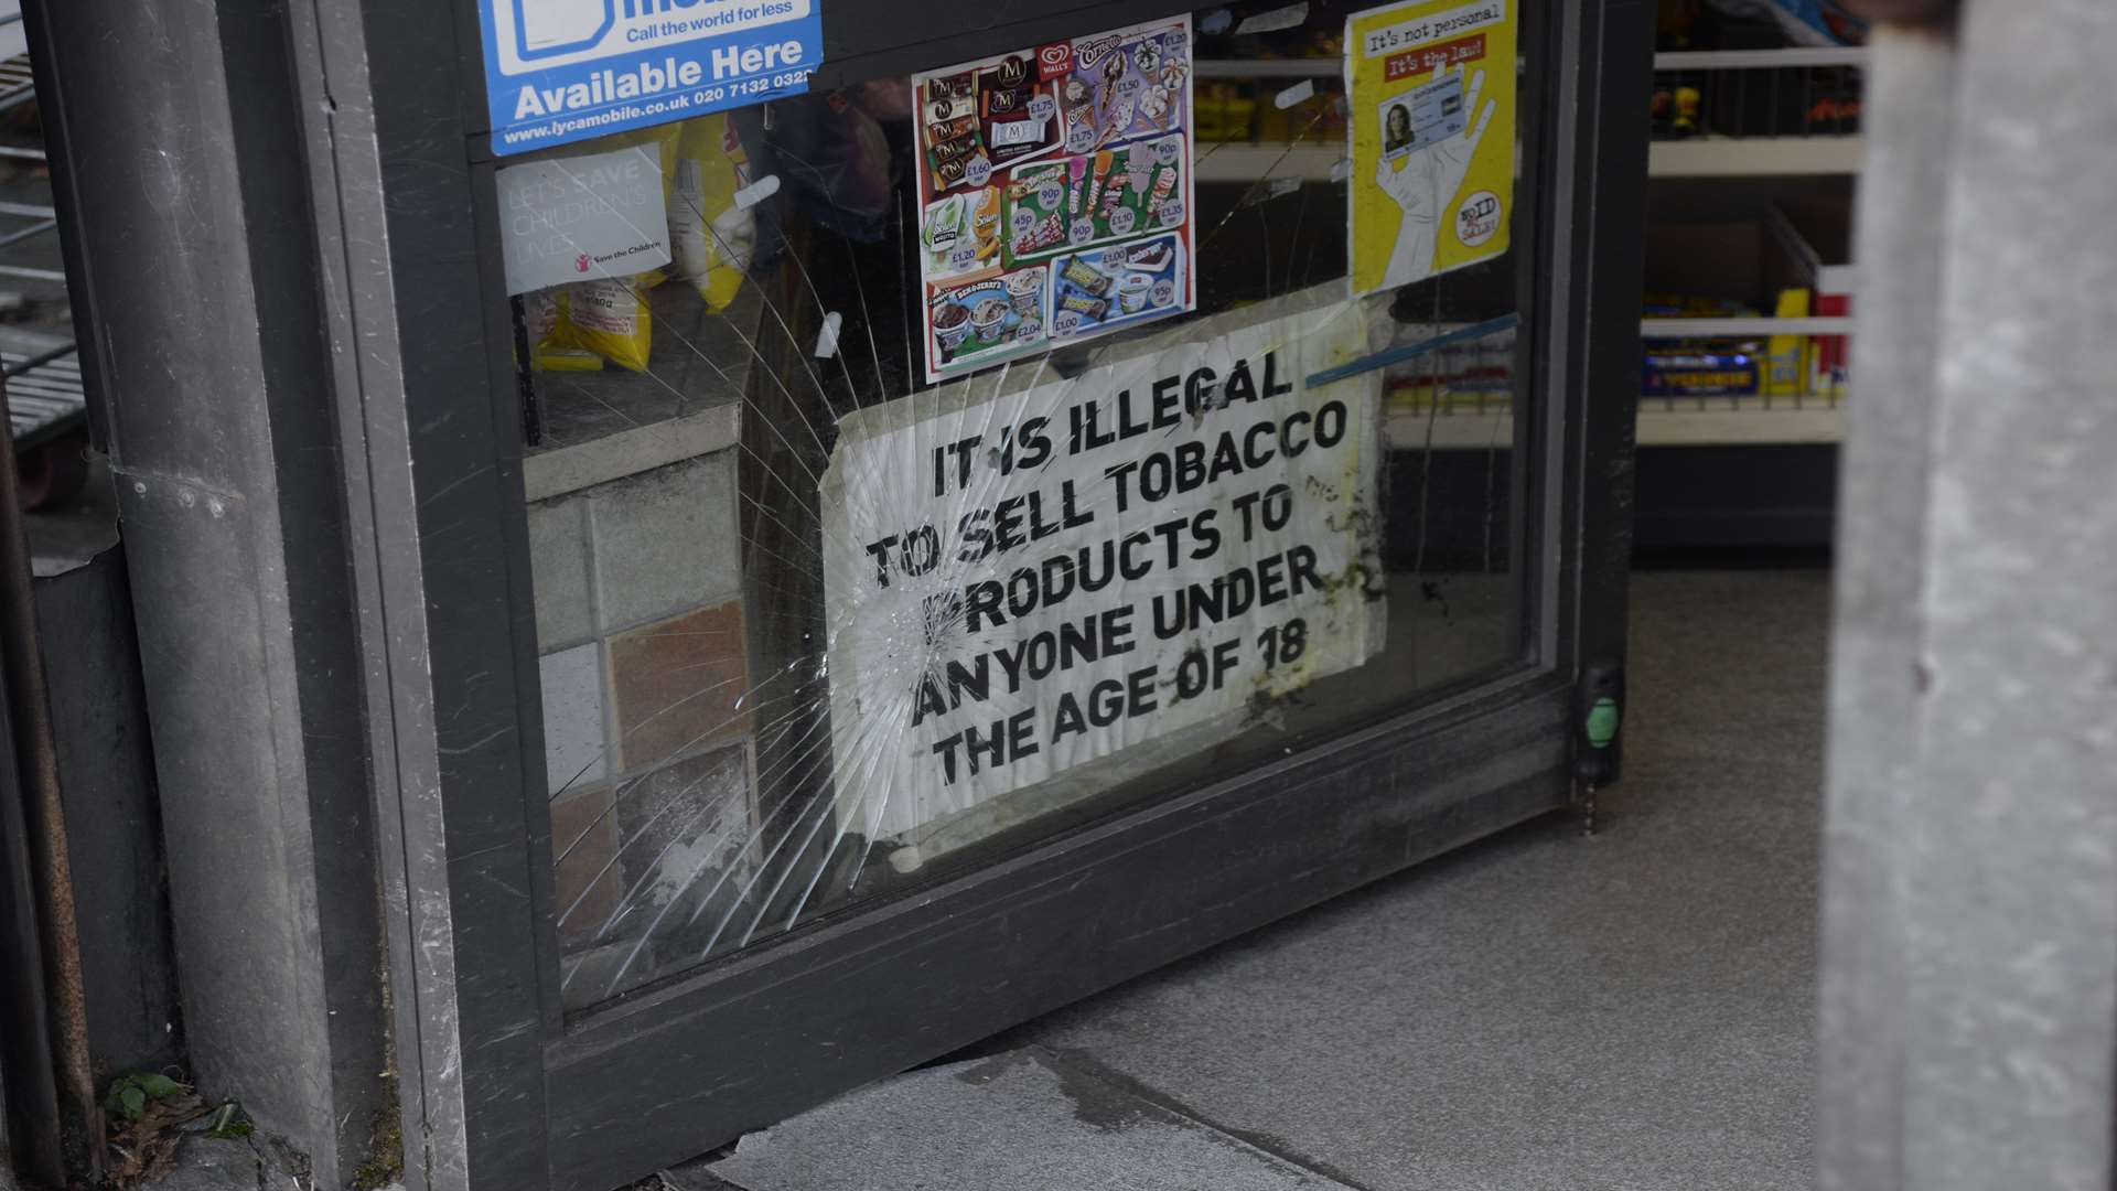
<path fill-rule="evenodd" d="M 724 449 L 529 506 L 569 1005 L 627 958 L 627 985 L 696 962 L 743 884 L 756 761 L 735 504 Z M 652 952 L 633 956 L 648 924 Z"/>

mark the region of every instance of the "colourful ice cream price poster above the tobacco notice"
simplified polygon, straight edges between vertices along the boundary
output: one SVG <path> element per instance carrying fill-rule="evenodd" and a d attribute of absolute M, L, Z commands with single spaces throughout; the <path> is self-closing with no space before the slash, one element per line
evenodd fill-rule
<path fill-rule="evenodd" d="M 912 85 L 929 381 L 1196 309 L 1190 17 Z"/>

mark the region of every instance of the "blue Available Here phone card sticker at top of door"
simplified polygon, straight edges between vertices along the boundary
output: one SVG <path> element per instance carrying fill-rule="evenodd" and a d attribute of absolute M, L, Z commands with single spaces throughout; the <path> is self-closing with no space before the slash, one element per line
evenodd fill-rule
<path fill-rule="evenodd" d="M 819 0 L 478 0 L 493 153 L 809 89 Z"/>

